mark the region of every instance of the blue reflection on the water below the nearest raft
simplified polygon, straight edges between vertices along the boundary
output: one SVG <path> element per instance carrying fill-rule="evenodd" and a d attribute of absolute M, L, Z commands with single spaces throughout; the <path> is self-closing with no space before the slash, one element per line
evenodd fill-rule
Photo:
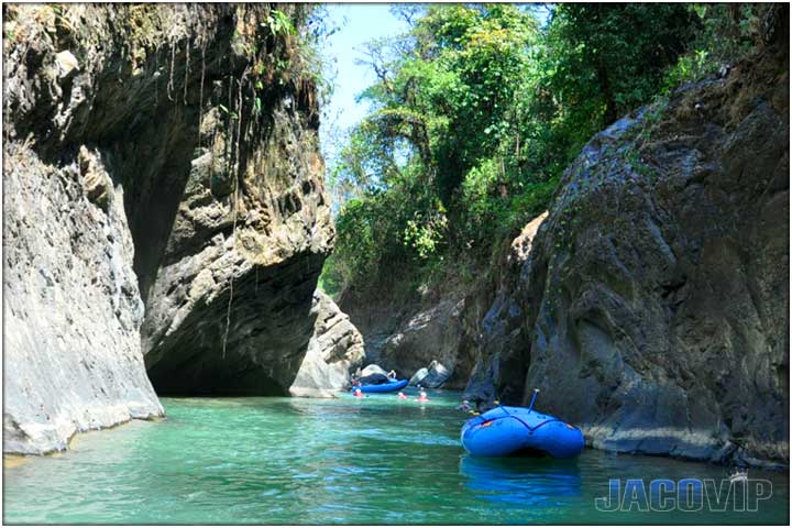
<path fill-rule="evenodd" d="M 565 504 L 582 495 L 574 460 L 551 458 L 477 459 L 463 455 L 460 472 L 476 498 L 521 506 Z"/>

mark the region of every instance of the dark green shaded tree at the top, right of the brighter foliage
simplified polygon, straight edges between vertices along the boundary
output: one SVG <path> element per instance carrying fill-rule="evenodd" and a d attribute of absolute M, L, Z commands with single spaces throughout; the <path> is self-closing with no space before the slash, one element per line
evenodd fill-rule
<path fill-rule="evenodd" d="M 544 80 L 575 143 L 650 100 L 698 29 L 680 3 L 558 6 L 542 54 Z"/>

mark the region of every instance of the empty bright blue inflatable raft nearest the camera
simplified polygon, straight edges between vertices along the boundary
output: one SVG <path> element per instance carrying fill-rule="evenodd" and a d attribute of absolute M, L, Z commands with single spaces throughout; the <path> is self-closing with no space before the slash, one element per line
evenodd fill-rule
<path fill-rule="evenodd" d="M 473 457 L 549 454 L 578 457 L 585 441 L 580 429 L 525 407 L 495 407 L 462 426 L 462 446 Z"/>

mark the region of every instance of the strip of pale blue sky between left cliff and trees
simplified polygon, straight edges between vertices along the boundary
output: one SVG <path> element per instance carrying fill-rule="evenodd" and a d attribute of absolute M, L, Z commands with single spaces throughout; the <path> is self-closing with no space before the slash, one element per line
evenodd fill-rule
<path fill-rule="evenodd" d="M 374 84 L 370 67 L 358 64 L 364 57 L 363 45 L 374 38 L 397 35 L 407 24 L 391 13 L 388 3 L 331 3 L 327 4 L 328 25 L 338 26 L 321 53 L 329 63 L 328 75 L 334 80 L 330 105 L 323 109 L 320 136 L 326 160 L 330 161 L 336 145 L 333 132 L 345 132 L 367 113 L 365 103 L 355 102 L 355 96 Z"/>

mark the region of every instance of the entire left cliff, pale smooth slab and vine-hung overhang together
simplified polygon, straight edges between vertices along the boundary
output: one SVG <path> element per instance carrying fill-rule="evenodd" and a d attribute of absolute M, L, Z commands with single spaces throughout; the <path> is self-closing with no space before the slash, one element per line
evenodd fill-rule
<path fill-rule="evenodd" d="M 306 9 L 4 10 L 4 450 L 161 414 L 143 361 L 287 394 L 333 242 Z"/>

